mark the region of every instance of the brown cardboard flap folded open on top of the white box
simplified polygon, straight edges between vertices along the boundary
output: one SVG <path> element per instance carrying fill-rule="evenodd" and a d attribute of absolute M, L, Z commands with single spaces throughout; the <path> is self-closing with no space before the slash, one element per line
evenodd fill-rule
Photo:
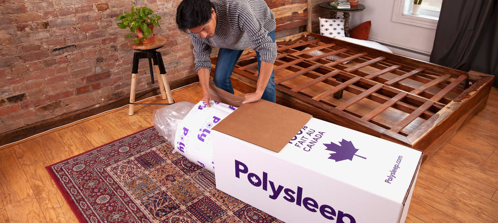
<path fill-rule="evenodd" d="M 242 105 L 213 130 L 280 152 L 311 117 L 305 112 L 259 100 Z"/>

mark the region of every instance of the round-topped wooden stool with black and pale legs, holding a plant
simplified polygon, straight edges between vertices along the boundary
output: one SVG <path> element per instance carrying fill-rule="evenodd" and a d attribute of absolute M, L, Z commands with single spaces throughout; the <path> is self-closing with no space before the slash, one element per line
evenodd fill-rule
<path fill-rule="evenodd" d="M 133 40 L 128 42 L 128 46 L 138 52 L 133 54 L 133 67 L 131 71 L 131 90 L 129 94 L 129 112 L 128 115 L 133 115 L 133 106 L 139 103 L 135 103 L 135 90 L 136 90 L 136 74 L 138 73 L 138 61 L 140 59 L 147 58 L 149 60 L 149 69 L 150 69 L 150 78 L 152 80 L 152 84 L 154 84 L 154 72 L 152 67 L 155 70 L 155 73 L 158 74 L 157 80 L 159 82 L 159 91 L 161 92 L 161 98 L 166 99 L 166 95 L 168 98 L 168 103 L 173 104 L 173 96 L 171 95 L 171 90 L 169 89 L 168 79 L 166 77 L 166 69 L 164 68 L 164 63 L 162 61 L 162 56 L 160 52 L 157 52 L 156 49 L 159 49 L 166 44 L 166 39 L 161 36 L 156 36 L 155 41 L 151 43 L 144 44 L 135 44 Z M 152 66 L 152 61 L 153 66 Z M 159 77 L 160 74 L 160 77 Z"/>

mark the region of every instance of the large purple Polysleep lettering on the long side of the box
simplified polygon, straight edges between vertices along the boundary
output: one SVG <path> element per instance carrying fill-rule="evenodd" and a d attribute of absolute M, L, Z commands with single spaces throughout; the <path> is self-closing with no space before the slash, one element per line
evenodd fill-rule
<path fill-rule="evenodd" d="M 261 187 L 264 191 L 268 190 L 270 186 L 269 198 L 276 200 L 281 197 L 290 203 L 295 203 L 297 206 L 301 205 L 310 212 L 320 212 L 320 214 L 328 220 L 337 219 L 337 223 L 345 223 L 344 219 L 349 219 L 349 223 L 356 223 L 355 218 L 347 213 L 339 211 L 336 213 L 335 209 L 329 205 L 319 205 L 318 202 L 310 197 L 304 197 L 305 193 L 302 187 L 297 186 L 296 189 L 284 188 L 284 186 L 268 180 L 268 173 L 262 172 L 262 178 L 255 173 L 249 173 L 249 168 L 246 164 L 239 160 L 235 160 L 235 177 L 241 178 L 241 174 L 247 174 L 247 179 L 254 187 Z M 283 192 L 283 193 L 282 193 Z"/>

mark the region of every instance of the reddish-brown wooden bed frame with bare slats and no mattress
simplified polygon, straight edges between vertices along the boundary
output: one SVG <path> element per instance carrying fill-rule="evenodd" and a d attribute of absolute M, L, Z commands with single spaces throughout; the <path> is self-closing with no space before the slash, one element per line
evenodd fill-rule
<path fill-rule="evenodd" d="M 277 28 L 291 27 L 278 21 Z M 278 39 L 277 50 L 278 104 L 419 149 L 424 161 L 486 107 L 494 79 L 309 32 Z M 323 55 L 313 56 L 316 50 Z M 236 90 L 253 91 L 255 53 L 242 56 L 233 73 Z"/>

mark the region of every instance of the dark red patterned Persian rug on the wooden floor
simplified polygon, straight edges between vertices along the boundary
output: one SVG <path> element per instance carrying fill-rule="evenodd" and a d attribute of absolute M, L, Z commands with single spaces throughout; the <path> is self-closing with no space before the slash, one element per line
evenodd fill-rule
<path fill-rule="evenodd" d="M 282 223 L 217 190 L 153 127 L 46 168 L 80 222 Z"/>

